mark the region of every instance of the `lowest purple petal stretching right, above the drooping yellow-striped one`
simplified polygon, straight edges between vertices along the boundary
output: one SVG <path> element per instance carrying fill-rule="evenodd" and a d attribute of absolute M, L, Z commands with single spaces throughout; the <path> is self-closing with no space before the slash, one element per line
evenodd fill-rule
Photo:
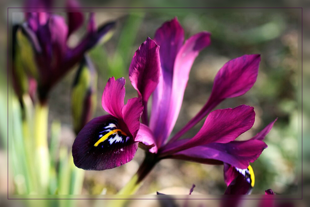
<path fill-rule="evenodd" d="M 171 158 L 189 160 L 203 164 L 231 164 L 245 169 L 254 162 L 267 145 L 260 140 L 210 143 L 177 152 Z"/>

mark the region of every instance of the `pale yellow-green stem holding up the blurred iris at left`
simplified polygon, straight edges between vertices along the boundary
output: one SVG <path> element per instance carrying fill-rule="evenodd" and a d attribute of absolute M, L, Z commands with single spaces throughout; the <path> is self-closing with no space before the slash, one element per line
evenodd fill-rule
<path fill-rule="evenodd" d="M 47 144 L 47 104 L 38 103 L 35 106 L 35 161 L 37 163 L 38 179 L 40 183 L 40 194 L 47 194 L 47 186 L 50 173 L 50 158 Z"/>

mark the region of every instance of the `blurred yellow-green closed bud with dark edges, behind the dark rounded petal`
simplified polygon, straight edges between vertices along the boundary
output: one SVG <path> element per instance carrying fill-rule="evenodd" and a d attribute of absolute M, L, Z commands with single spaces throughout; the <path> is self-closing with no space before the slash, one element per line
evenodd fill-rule
<path fill-rule="evenodd" d="M 91 120 L 96 109 L 97 73 L 89 57 L 78 68 L 71 92 L 73 129 L 76 134 Z"/>

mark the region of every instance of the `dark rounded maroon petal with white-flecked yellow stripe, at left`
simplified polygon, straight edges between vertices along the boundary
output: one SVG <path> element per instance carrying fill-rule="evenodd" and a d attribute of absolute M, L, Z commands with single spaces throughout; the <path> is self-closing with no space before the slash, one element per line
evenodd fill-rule
<path fill-rule="evenodd" d="M 85 170 L 105 170 L 132 160 L 138 149 L 138 142 L 133 137 L 126 136 L 127 129 L 121 126 L 126 125 L 111 115 L 100 116 L 88 122 L 73 142 L 74 164 Z M 106 134 L 107 139 L 101 142 L 100 139 Z"/>

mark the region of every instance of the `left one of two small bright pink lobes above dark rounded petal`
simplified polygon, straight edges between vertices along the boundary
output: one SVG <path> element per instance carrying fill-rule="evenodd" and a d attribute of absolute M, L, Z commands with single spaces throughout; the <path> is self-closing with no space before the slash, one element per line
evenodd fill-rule
<path fill-rule="evenodd" d="M 109 78 L 102 94 L 102 108 L 109 114 L 122 119 L 122 108 L 125 98 L 125 79 Z"/>

